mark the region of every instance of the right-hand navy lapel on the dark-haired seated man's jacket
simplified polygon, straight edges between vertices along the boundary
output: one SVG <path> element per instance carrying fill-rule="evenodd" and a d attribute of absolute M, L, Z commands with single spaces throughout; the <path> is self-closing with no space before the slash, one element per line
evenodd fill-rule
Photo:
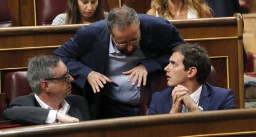
<path fill-rule="evenodd" d="M 203 84 L 202 92 L 200 95 L 199 106 L 202 106 L 203 111 L 208 111 L 211 101 L 211 91 L 208 90 L 207 85 Z"/>

